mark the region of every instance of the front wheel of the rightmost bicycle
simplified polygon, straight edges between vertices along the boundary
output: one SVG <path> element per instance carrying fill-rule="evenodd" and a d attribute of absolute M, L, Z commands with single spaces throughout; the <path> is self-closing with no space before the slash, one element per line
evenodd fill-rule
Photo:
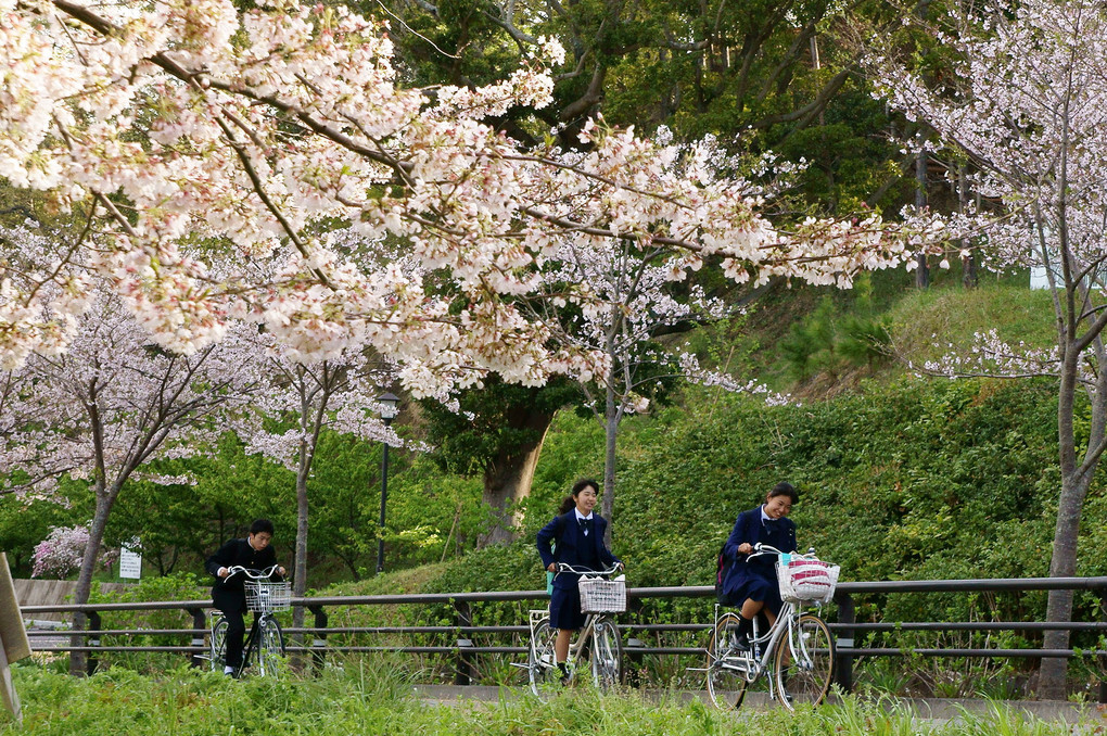
<path fill-rule="evenodd" d="M 790 643 L 790 645 L 789 645 Z M 793 624 L 788 641 L 776 649 L 776 686 L 785 707 L 820 704 L 834 678 L 835 644 L 823 619 L 805 613 Z"/>

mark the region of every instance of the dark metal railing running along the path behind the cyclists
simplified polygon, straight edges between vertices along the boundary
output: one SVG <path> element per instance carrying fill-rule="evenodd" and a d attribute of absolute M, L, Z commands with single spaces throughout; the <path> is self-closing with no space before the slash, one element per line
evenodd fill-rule
<path fill-rule="evenodd" d="M 831 620 L 830 629 L 838 642 L 837 675 L 838 683 L 846 690 L 852 688 L 853 660 L 865 656 L 900 656 L 908 653 L 922 656 L 959 656 L 959 657 L 1073 657 L 1095 655 L 1105 657 L 1105 651 L 1077 650 L 1044 650 L 1044 649 L 912 649 L 904 652 L 891 647 L 867 647 L 857 645 L 857 635 L 875 631 L 1107 631 L 1107 622 L 1069 622 L 1046 623 L 1026 621 L 990 621 L 990 622 L 869 622 L 858 623 L 856 620 L 856 597 L 867 594 L 907 593 L 907 592 L 1000 592 L 1000 591 L 1043 591 L 1043 590 L 1090 590 L 1098 593 L 1100 611 L 1107 613 L 1107 577 L 1098 578 L 1010 578 L 984 580 L 920 580 L 920 581 L 870 581 L 841 582 L 835 594 L 837 620 Z M 651 598 L 710 598 L 714 589 L 707 585 L 672 587 L 672 588 L 631 588 L 627 591 L 630 609 L 633 611 L 641 601 Z M 313 626 L 286 629 L 290 637 L 310 637 L 310 644 L 291 645 L 292 653 L 310 654 L 321 663 L 329 652 L 403 652 L 418 654 L 442 654 L 454 657 L 453 668 L 456 673 L 455 683 L 470 684 L 473 678 L 473 661 L 478 654 L 513 654 L 524 655 L 527 652 L 523 645 L 476 645 L 473 639 L 482 634 L 513 634 L 525 639 L 528 629 L 518 625 L 477 625 L 473 620 L 473 603 L 477 602 L 511 602 L 537 601 L 545 604 L 547 599 L 544 590 L 527 591 L 492 591 L 465 593 L 417 593 L 407 595 L 344 595 L 344 597 L 309 597 L 294 598 L 292 605 L 307 609 L 314 616 Z M 454 610 L 452 625 L 414 625 L 414 626 L 328 626 L 328 609 L 334 607 L 377 607 L 392 604 L 449 605 Z M 37 613 L 73 613 L 82 611 L 87 616 L 89 629 L 81 632 L 28 631 L 31 647 L 35 652 L 85 652 L 89 654 L 89 671 L 94 671 L 99 664 L 99 653 L 104 652 L 177 652 L 190 654 L 194 663 L 201 661 L 197 655 L 206 650 L 204 637 L 207 633 L 207 611 L 210 603 L 205 600 L 195 601 L 155 601 L 146 603 L 94 603 L 85 605 L 29 605 L 22 609 L 23 615 L 34 618 Z M 112 611 L 165 611 L 183 610 L 192 618 L 190 629 L 102 629 L 101 614 Z M 711 629 L 710 607 L 704 605 L 704 623 L 684 624 L 651 624 L 628 621 L 620 623 L 620 629 L 628 633 L 624 652 L 632 662 L 641 662 L 644 655 L 697 655 L 702 647 L 696 646 L 646 646 L 635 634 L 658 632 L 703 632 Z M 624 616 L 624 619 L 632 616 Z M 1107 618 L 1107 616 L 1105 616 Z M 353 645 L 329 644 L 327 637 L 335 634 L 436 634 L 447 637 L 449 643 L 433 645 Z M 59 635 L 72 637 L 68 644 L 58 642 L 41 643 L 43 636 L 56 639 Z M 127 635 L 179 635 L 190 637 L 188 644 L 143 646 L 124 644 L 104 644 L 103 636 Z M 75 643 L 83 642 L 83 643 Z M 1107 703 L 1107 682 L 1099 686 L 1099 702 Z"/>

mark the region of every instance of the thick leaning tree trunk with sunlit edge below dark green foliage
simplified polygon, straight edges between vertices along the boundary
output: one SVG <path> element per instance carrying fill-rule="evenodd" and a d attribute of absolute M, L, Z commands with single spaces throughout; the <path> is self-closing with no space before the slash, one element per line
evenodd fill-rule
<path fill-rule="evenodd" d="M 516 537 L 521 518 L 515 505 L 530 495 L 542 443 L 554 419 L 548 414 L 538 413 L 530 413 L 528 417 L 530 427 L 540 432 L 538 439 L 510 454 L 500 453 L 500 457 L 485 469 L 484 502 L 493 508 L 496 519 L 493 528 L 478 541 L 478 547 L 506 545 Z"/>

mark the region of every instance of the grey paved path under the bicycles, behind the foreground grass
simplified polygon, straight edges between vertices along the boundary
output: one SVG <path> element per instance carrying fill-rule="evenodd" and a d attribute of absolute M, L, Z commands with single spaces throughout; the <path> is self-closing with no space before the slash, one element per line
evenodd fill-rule
<path fill-rule="evenodd" d="M 448 705 L 458 702 L 497 702 L 500 697 L 520 697 L 524 691 L 517 687 L 488 687 L 470 685 L 459 687 L 452 685 L 416 685 L 415 693 L 427 703 Z M 682 691 L 685 699 L 697 698 L 708 703 L 706 691 Z M 897 698 L 892 701 L 914 711 L 920 718 L 927 721 L 956 721 L 962 713 L 989 713 L 993 702 L 973 698 Z M 999 701 L 1002 707 L 1025 713 L 1042 721 L 1069 724 L 1095 724 L 1107 728 L 1107 711 L 1096 704 L 1077 704 L 1067 701 Z M 751 693 L 743 707 L 766 708 L 776 707 L 767 702 L 761 693 Z"/>

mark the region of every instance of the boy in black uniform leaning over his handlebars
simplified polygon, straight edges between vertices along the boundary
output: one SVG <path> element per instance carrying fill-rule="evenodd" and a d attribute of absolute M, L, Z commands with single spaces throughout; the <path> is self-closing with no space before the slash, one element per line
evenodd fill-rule
<path fill-rule="evenodd" d="M 230 539 L 208 558 L 204 568 L 216 577 L 211 587 L 211 604 L 227 619 L 227 653 L 224 674 L 234 674 L 242 663 L 242 640 L 246 636 L 246 576 L 230 576 L 229 568 L 241 566 L 247 570 L 266 570 L 277 564 L 277 554 L 269 542 L 273 538 L 273 522 L 256 519 L 246 539 Z M 284 568 L 277 573 L 284 577 Z"/>

